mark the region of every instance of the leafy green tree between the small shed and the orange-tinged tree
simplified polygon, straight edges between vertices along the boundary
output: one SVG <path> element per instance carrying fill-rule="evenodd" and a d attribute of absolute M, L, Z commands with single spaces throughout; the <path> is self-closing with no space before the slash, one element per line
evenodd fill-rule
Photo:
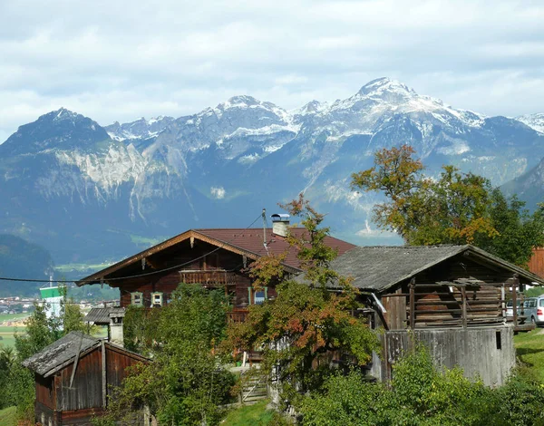
<path fill-rule="evenodd" d="M 224 291 L 181 285 L 157 310 L 153 362 L 125 379 L 109 402 L 110 419 L 131 424 L 134 409 L 147 405 L 160 424 L 217 424 L 234 384 L 215 351 L 226 308 Z"/>

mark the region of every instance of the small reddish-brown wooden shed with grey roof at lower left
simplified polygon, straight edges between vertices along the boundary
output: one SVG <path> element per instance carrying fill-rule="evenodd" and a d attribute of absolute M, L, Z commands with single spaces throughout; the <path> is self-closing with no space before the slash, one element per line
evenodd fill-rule
<path fill-rule="evenodd" d="M 81 332 L 66 334 L 26 359 L 34 372 L 36 423 L 44 426 L 91 425 L 107 407 L 127 367 L 150 360 Z"/>

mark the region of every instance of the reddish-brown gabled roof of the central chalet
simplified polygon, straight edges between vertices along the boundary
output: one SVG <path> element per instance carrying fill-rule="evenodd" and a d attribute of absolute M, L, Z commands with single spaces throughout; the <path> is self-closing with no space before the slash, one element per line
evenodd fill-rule
<path fill-rule="evenodd" d="M 290 228 L 290 232 L 295 237 L 301 237 L 306 233 L 305 228 Z M 264 246 L 263 228 L 206 228 L 206 229 L 189 229 L 176 237 L 171 237 L 162 243 L 141 251 L 140 253 L 128 257 L 120 262 L 108 266 L 101 271 L 95 272 L 91 276 L 86 276 L 76 284 L 83 286 L 85 284 L 100 283 L 101 280 L 107 281 L 108 278 L 115 272 L 120 271 L 126 266 L 141 261 L 141 259 L 150 257 L 160 251 L 174 247 L 189 238 L 199 239 L 211 245 L 224 248 L 239 255 L 247 256 L 251 259 L 262 257 L 267 254 L 280 255 L 287 252 L 287 257 L 284 266 L 289 272 L 300 272 L 300 261 L 296 257 L 296 248 L 289 247 L 285 237 L 277 236 L 273 233 L 272 228 L 266 229 L 267 248 Z M 355 245 L 343 241 L 335 237 L 325 237 L 325 244 L 338 250 L 338 254 L 342 255 L 346 251 L 355 247 Z"/>

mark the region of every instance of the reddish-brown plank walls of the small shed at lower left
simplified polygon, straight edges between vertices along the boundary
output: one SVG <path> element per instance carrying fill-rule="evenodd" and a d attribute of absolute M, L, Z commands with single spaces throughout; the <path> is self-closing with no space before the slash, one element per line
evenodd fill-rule
<path fill-rule="evenodd" d="M 128 375 L 127 368 L 147 362 L 149 360 L 136 353 L 101 342 L 82 353 L 77 364 L 67 363 L 47 377 L 34 373 L 36 423 L 44 426 L 91 425 L 92 417 L 102 415 L 115 387 L 120 386 Z"/>

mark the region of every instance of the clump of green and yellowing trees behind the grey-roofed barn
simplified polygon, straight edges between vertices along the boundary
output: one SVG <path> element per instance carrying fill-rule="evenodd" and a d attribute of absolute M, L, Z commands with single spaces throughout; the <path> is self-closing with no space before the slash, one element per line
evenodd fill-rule
<path fill-rule="evenodd" d="M 544 244 L 544 208 L 533 215 L 518 198 L 506 199 L 489 179 L 443 166 L 438 179 L 423 175 L 414 150 L 379 150 L 374 167 L 352 175 L 352 188 L 380 191 L 374 207 L 379 228 L 407 244 L 474 244 L 516 265 L 527 266 L 533 247 Z"/>

